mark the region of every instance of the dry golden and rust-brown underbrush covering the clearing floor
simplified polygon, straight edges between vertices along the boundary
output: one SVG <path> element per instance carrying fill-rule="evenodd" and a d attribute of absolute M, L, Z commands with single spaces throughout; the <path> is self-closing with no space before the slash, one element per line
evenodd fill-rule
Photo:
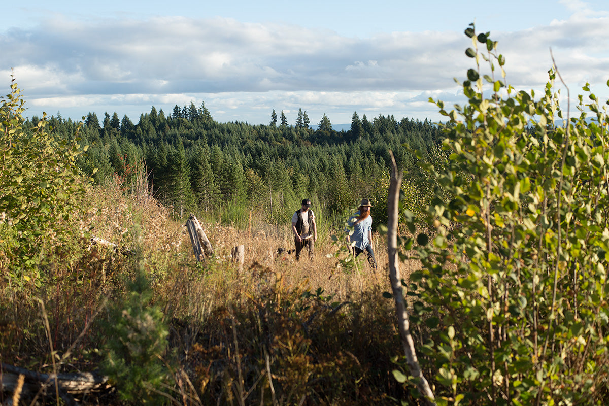
<path fill-rule="evenodd" d="M 329 238 L 315 243 L 314 261 L 295 261 L 287 222 L 239 230 L 197 213 L 214 256 L 196 262 L 184 223 L 150 195 L 110 184 L 85 200 L 69 256 L 46 251 L 38 285 L 17 291 L 2 279 L 1 362 L 106 373 L 118 391 L 105 404 L 404 398 L 390 373 L 400 342 L 382 297 L 380 237 L 379 270 L 364 258 L 346 269 Z M 237 245 L 245 245 L 242 267 L 231 257 Z"/>

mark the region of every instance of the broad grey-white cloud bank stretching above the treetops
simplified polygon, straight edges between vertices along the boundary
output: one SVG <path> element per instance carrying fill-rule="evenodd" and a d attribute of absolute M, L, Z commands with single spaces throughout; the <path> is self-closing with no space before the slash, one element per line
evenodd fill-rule
<path fill-rule="evenodd" d="M 579 1 L 562 3 L 573 10 L 571 18 L 491 32 L 507 59 L 509 83 L 541 88 L 552 48 L 574 89 L 586 81 L 604 86 L 609 16 L 591 13 Z M 193 100 L 205 101 L 221 121 L 267 122 L 273 108 L 286 114 L 303 108 L 312 122 L 327 113 L 340 123 L 349 122 L 354 110 L 434 114 L 430 96 L 457 102 L 462 96 L 452 78 L 462 80 L 474 65 L 464 54 L 468 46 L 471 40 L 462 32 L 348 38 L 331 30 L 228 18 L 76 22 L 54 15 L 38 27 L 0 33 L 0 75 L 8 83 L 14 67 L 30 105 L 53 111 L 80 107 L 77 116 L 88 108 L 122 108 L 135 112 L 128 114 L 133 118 L 152 104 L 169 113 L 173 105 Z"/>

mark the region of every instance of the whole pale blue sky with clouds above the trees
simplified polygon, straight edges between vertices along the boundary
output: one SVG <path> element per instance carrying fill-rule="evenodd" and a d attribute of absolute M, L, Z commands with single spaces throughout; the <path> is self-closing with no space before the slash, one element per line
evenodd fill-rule
<path fill-rule="evenodd" d="M 205 102 L 220 122 L 440 120 L 429 97 L 462 102 L 475 21 L 505 55 L 507 82 L 541 90 L 552 54 L 571 89 L 609 97 L 609 3 L 580 0 L 33 0 L 2 5 L 0 88 L 14 74 L 27 116 Z M 566 94 L 566 91 L 563 92 Z"/>

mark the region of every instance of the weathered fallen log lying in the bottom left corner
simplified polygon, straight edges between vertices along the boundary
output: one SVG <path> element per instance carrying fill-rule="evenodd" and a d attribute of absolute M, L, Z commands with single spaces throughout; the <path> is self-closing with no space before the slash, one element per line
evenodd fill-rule
<path fill-rule="evenodd" d="M 21 382 L 20 376 L 23 376 Z M 18 391 L 18 398 L 22 399 L 52 397 L 58 394 L 65 404 L 76 405 L 74 396 L 105 393 L 111 388 L 107 376 L 93 373 L 41 374 L 19 366 L 0 364 L 0 392 Z"/>

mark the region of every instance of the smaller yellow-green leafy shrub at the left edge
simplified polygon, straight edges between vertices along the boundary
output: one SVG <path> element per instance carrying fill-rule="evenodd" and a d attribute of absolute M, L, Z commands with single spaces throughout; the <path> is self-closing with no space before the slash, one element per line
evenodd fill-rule
<path fill-rule="evenodd" d="M 10 89 L 0 98 L 0 251 L 6 262 L 0 271 L 13 284 L 38 285 L 45 250 L 75 237 L 69 220 L 85 193 L 75 161 L 86 147 L 77 137 L 57 141 L 46 116 L 24 131 L 25 102 L 14 79 Z"/>

